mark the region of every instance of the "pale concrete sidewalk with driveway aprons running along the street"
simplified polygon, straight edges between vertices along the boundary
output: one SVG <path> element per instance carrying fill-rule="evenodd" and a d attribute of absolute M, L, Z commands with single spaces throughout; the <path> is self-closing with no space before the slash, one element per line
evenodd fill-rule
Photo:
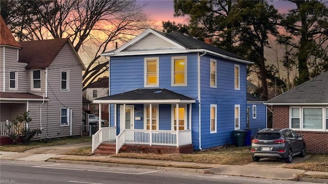
<path fill-rule="evenodd" d="M 52 162 L 66 162 L 66 163 L 87 163 L 93 165 L 105 165 L 116 167 L 131 167 L 131 168 L 147 168 L 157 170 L 171 170 L 171 171 L 184 171 L 184 172 L 198 172 L 198 173 L 212 173 L 221 175 L 233 176 L 248 176 L 269 179 L 294 179 L 297 175 L 327 175 L 323 172 L 305 172 L 303 170 L 286 169 L 282 168 L 286 163 L 281 160 L 263 160 L 260 162 L 252 162 L 243 166 L 232 165 L 215 165 L 196 162 L 180 162 L 168 160 L 148 160 L 148 159 L 134 159 L 134 158 L 119 158 L 91 155 L 91 156 L 77 156 L 77 155 L 64 155 L 64 153 L 75 150 L 78 148 L 90 147 L 90 142 L 83 144 L 71 144 L 65 146 L 52 146 L 28 150 L 24 153 L 5 152 L 0 151 L 0 159 L 11 160 L 26 160 L 26 161 L 52 161 Z M 308 156 L 309 157 L 309 156 Z M 51 159 L 52 158 L 52 159 Z M 300 157 L 295 157 L 294 162 L 302 161 Z M 300 178 L 302 180 L 302 178 Z M 303 180 L 319 183 L 328 183 L 326 179 L 311 179 Z"/>

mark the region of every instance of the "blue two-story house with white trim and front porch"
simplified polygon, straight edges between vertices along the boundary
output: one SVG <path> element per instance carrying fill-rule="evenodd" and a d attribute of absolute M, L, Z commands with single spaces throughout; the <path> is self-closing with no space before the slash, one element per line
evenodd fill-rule
<path fill-rule="evenodd" d="M 110 123 L 93 136 L 93 151 L 116 140 L 116 153 L 124 145 L 191 152 L 232 144 L 232 131 L 247 128 L 246 68 L 253 62 L 153 29 L 102 55 L 109 96 L 93 103 L 110 104 Z"/>

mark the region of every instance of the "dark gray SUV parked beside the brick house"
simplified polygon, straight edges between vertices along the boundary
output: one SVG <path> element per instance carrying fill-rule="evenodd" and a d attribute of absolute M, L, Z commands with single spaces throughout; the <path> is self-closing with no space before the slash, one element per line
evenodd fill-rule
<path fill-rule="evenodd" d="M 291 163 L 293 156 L 305 156 L 305 143 L 292 129 L 262 129 L 252 139 L 253 161 L 260 158 L 283 158 Z"/>

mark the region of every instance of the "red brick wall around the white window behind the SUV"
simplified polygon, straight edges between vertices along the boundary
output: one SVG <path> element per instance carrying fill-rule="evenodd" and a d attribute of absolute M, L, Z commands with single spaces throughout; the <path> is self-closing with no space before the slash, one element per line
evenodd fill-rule
<path fill-rule="evenodd" d="M 273 106 L 273 128 L 289 128 L 289 106 Z M 328 132 L 295 131 L 303 136 L 307 152 L 328 153 Z"/>

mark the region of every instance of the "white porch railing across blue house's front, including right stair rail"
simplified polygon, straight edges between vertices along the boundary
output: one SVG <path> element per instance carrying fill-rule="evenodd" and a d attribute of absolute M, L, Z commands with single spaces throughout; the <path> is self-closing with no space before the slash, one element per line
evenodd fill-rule
<path fill-rule="evenodd" d="M 158 146 L 182 146 L 192 144 L 191 130 L 179 131 L 179 142 L 177 144 L 176 131 L 171 130 L 137 130 L 125 129 L 116 136 L 116 154 L 125 144 L 135 145 L 158 145 Z"/>

